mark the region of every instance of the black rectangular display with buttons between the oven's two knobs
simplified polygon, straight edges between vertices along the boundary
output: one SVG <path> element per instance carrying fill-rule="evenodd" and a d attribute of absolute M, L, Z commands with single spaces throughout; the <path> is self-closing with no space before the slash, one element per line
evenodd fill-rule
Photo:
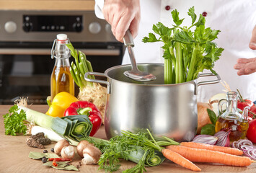
<path fill-rule="evenodd" d="M 81 32 L 82 16 L 23 15 L 25 32 Z"/>

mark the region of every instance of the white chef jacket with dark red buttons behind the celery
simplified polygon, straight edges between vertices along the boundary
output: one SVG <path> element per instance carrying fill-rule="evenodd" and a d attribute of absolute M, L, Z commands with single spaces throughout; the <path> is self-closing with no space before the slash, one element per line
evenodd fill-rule
<path fill-rule="evenodd" d="M 104 0 L 95 0 L 95 14 L 104 18 L 101 9 Z M 169 10 L 168 7 L 170 7 Z M 220 59 L 216 61 L 214 70 L 226 81 L 230 89 L 239 89 L 242 96 L 252 101 L 256 100 L 256 73 L 237 76 L 233 66 L 237 58 L 255 58 L 256 50 L 249 48 L 252 29 L 256 25 L 256 0 L 141 0 L 141 22 L 138 36 L 134 39 L 133 48 L 137 63 L 163 63 L 162 43 L 143 43 L 143 37 L 153 32 L 152 26 L 162 22 L 172 27 L 172 10 L 180 12 L 180 19 L 185 18 L 182 26 L 190 26 L 191 18 L 188 9 L 195 6 L 195 14 L 206 12 L 206 27 L 221 30 L 218 39 L 213 40 L 218 47 L 224 48 Z M 157 37 L 157 35 L 156 35 Z M 123 64 L 131 63 L 128 53 L 123 57 Z M 208 72 L 208 71 L 203 71 Z M 208 81 L 216 78 L 201 77 L 198 81 Z M 223 92 L 224 86 L 208 84 L 198 87 L 198 101 L 208 102 L 214 94 Z"/>

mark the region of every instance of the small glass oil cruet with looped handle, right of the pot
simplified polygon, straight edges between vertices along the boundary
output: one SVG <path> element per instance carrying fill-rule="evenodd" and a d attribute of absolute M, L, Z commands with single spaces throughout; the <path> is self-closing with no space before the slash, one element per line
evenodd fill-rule
<path fill-rule="evenodd" d="M 222 106 L 225 102 L 226 110 L 222 110 Z M 242 114 L 240 114 L 237 109 L 237 92 L 227 92 L 226 99 L 219 101 L 219 117 L 215 126 L 216 133 L 220 130 L 231 130 L 229 135 L 231 142 L 245 138 L 249 128 L 247 114 L 248 107 L 244 108 Z"/>

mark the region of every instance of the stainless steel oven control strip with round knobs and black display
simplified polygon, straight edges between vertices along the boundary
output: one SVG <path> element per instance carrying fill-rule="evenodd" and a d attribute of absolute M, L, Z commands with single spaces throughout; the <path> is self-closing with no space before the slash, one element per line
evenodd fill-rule
<path fill-rule="evenodd" d="M 61 33 L 72 43 L 118 42 L 111 26 L 94 11 L 0 10 L 0 43 L 51 43 Z"/>

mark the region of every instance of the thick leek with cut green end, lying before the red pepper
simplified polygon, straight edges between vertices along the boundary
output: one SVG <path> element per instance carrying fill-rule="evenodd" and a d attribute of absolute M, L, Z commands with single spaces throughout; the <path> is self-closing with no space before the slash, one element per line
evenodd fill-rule
<path fill-rule="evenodd" d="M 91 133 L 92 123 L 87 115 L 51 117 L 24 106 L 18 107 L 26 112 L 28 121 L 48 130 L 53 130 L 68 141 L 81 141 Z"/>

